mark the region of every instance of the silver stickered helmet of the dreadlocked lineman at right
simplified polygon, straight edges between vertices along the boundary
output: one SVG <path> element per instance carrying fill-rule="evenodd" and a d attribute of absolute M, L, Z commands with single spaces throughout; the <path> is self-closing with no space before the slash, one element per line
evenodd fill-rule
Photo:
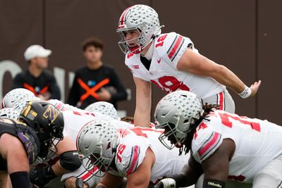
<path fill-rule="evenodd" d="M 203 113 L 202 104 L 195 94 L 184 90 L 167 94 L 159 101 L 154 113 L 156 128 L 165 130 L 159 140 L 168 149 L 183 144 L 188 134 L 193 134 L 190 125 Z M 174 145 L 166 143 L 166 137 L 175 142 Z"/>

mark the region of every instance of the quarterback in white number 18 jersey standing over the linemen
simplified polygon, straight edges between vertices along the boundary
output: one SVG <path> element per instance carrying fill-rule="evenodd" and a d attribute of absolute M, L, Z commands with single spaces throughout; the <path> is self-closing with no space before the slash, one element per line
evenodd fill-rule
<path fill-rule="evenodd" d="M 231 113 L 235 105 L 226 87 L 243 98 L 257 93 L 260 81 L 245 86 L 231 70 L 199 54 L 188 37 L 161 34 L 161 27 L 157 12 L 142 4 L 126 8 L 118 22 L 118 44 L 136 85 L 136 125 L 149 125 L 151 82 L 166 92 L 193 92 L 198 99 Z"/>

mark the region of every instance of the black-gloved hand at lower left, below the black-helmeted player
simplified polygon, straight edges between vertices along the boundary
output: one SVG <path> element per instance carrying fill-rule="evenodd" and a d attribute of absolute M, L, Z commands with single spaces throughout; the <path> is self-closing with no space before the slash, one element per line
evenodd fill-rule
<path fill-rule="evenodd" d="M 54 174 L 51 166 L 46 167 L 35 167 L 30 170 L 30 182 L 35 184 L 37 187 L 43 187 L 50 180 L 54 179 L 56 175 Z"/>

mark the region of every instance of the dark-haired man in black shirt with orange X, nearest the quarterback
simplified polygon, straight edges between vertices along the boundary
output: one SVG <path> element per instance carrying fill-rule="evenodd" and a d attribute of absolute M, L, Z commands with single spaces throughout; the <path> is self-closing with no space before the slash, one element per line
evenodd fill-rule
<path fill-rule="evenodd" d="M 93 37 L 82 43 L 86 66 L 75 71 L 68 104 L 84 109 L 96 101 L 108 101 L 117 108 L 116 102 L 126 99 L 125 87 L 114 68 L 102 63 L 103 46 Z"/>

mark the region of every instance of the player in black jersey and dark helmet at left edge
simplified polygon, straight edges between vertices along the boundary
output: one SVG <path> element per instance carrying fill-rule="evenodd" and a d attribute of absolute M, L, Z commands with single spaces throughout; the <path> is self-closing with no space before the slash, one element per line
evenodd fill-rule
<path fill-rule="evenodd" d="M 18 120 L 0 118 L 0 186 L 8 187 L 9 175 L 13 188 L 30 188 L 29 165 L 46 156 L 54 138 L 63 139 L 63 119 L 53 106 L 28 104 Z"/>

